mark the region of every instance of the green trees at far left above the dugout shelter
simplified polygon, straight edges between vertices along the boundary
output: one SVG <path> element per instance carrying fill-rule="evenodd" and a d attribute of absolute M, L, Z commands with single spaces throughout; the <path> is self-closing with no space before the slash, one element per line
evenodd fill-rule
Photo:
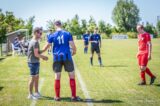
<path fill-rule="evenodd" d="M 2 9 L 0 9 L 0 43 L 6 42 L 7 33 L 18 29 L 28 29 L 31 35 L 34 21 L 34 16 L 25 21 L 21 18 L 17 18 L 13 12 L 3 12 Z"/>

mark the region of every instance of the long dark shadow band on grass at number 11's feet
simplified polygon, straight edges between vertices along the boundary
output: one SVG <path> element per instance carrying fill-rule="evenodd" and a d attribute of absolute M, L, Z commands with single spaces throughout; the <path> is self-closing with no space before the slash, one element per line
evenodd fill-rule
<path fill-rule="evenodd" d="M 40 100 L 54 100 L 53 97 L 43 96 Z M 60 102 L 72 102 L 70 97 L 61 98 Z M 94 99 L 84 99 L 79 101 L 82 103 L 123 103 L 121 100 L 111 100 L 111 99 L 102 99 L 102 100 L 94 100 Z"/>

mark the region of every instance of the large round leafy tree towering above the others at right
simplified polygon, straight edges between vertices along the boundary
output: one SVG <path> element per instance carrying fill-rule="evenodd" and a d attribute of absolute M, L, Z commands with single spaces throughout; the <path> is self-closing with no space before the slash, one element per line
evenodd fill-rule
<path fill-rule="evenodd" d="M 125 31 L 133 31 L 140 20 L 139 9 L 133 0 L 118 0 L 112 12 L 115 24 Z"/>

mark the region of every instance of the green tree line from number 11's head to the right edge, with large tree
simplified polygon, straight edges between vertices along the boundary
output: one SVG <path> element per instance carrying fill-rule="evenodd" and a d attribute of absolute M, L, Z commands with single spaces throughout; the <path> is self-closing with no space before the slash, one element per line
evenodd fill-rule
<path fill-rule="evenodd" d="M 116 26 L 112 26 L 106 23 L 104 20 L 100 20 L 98 23 L 94 17 L 90 16 L 87 21 L 85 19 L 79 19 L 76 14 L 71 20 L 63 22 L 63 28 L 70 31 L 73 35 L 82 35 L 86 30 L 93 32 L 94 28 L 99 28 L 99 33 L 103 34 L 106 38 L 111 37 L 112 34 L 122 33 L 127 34 L 130 38 L 136 38 L 136 26 L 140 22 L 139 8 L 133 0 L 118 0 L 116 6 L 112 11 L 112 20 Z M 49 20 L 47 22 L 48 29 L 54 30 L 54 21 Z M 157 26 L 152 25 L 149 22 L 143 22 L 144 28 L 147 32 L 157 37 L 160 35 L 160 21 L 157 22 Z"/>

